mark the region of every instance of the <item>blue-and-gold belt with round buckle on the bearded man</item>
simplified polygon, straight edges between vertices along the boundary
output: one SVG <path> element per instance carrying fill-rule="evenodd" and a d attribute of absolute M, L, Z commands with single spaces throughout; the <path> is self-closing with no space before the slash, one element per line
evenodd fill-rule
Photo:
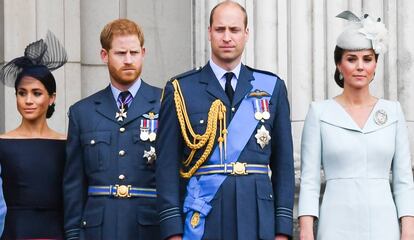
<path fill-rule="evenodd" d="M 89 186 L 89 196 L 113 196 L 118 198 L 157 197 L 155 188 L 137 188 L 131 185 Z"/>

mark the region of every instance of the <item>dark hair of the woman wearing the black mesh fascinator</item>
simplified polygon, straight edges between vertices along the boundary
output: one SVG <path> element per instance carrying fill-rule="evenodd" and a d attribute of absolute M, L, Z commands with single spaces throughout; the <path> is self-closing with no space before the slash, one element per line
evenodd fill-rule
<path fill-rule="evenodd" d="M 17 75 L 16 81 L 14 82 L 14 90 L 17 94 L 17 88 L 22 81 L 22 78 L 25 76 L 30 76 L 36 78 L 39 82 L 45 86 L 47 93 L 52 96 L 56 93 L 56 81 L 55 77 L 53 77 L 52 73 L 49 69 L 45 66 L 35 66 L 35 67 L 28 67 L 24 68 L 22 72 Z M 52 103 L 47 108 L 46 118 L 52 117 L 53 113 L 55 112 L 55 103 Z"/>

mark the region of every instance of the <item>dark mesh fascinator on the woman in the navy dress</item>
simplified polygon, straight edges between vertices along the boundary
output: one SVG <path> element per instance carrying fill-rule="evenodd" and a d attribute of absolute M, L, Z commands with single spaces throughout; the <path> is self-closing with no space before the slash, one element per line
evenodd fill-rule
<path fill-rule="evenodd" d="M 14 82 L 24 69 L 46 67 L 49 71 L 56 70 L 67 62 L 66 50 L 56 36 L 48 31 L 44 39 L 29 44 L 24 56 L 15 58 L 0 69 L 1 81 L 13 87 Z"/>

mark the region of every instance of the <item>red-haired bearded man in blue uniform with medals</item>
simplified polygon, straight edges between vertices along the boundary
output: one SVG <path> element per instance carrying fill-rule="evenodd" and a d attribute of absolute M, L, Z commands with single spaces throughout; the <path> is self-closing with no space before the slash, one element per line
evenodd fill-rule
<path fill-rule="evenodd" d="M 144 36 L 118 19 L 101 33 L 110 85 L 69 110 L 67 239 L 158 239 L 154 148 L 161 90 L 142 81 Z"/>

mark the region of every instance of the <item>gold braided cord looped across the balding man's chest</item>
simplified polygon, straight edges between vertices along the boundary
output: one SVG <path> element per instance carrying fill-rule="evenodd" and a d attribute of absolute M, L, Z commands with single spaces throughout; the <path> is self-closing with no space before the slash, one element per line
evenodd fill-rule
<path fill-rule="evenodd" d="M 175 109 L 177 111 L 178 122 L 180 123 L 181 134 L 183 135 L 185 144 L 191 149 L 191 153 L 186 160 L 183 160 L 183 165 L 188 167 L 193 160 L 193 157 L 197 150 L 205 147 L 205 150 L 201 157 L 195 162 L 195 164 L 188 170 L 180 169 L 180 175 L 183 178 L 190 178 L 201 165 L 207 160 L 211 151 L 213 150 L 214 140 L 216 139 L 217 127 L 219 127 L 220 136 L 218 137 L 218 144 L 220 149 L 220 160 L 223 160 L 226 154 L 226 106 L 219 99 L 215 100 L 208 112 L 207 128 L 203 135 L 196 134 L 191 126 L 190 119 L 188 118 L 187 109 L 185 106 L 184 96 L 181 92 L 180 84 L 178 80 L 172 81 L 174 86 L 174 102 Z M 190 136 L 188 135 L 190 134 Z M 224 147 L 224 149 L 223 149 Z"/>

